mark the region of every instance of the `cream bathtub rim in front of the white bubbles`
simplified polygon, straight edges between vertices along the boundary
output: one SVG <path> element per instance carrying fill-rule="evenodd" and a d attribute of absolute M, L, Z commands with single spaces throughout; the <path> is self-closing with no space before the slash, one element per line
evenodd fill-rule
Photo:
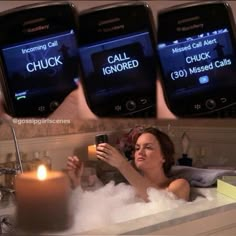
<path fill-rule="evenodd" d="M 236 209 L 236 200 L 218 193 L 216 187 L 205 189 L 210 191 L 213 199 L 203 198 L 196 202 L 190 202 L 185 205 L 183 211 L 175 208 L 73 235 L 145 235 L 170 226 Z"/>

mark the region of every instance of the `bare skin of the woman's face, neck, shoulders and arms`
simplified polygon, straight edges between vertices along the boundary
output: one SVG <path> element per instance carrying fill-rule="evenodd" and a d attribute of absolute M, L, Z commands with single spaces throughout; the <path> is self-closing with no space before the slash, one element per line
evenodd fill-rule
<path fill-rule="evenodd" d="M 171 180 L 166 177 L 162 167 L 165 159 L 160 151 L 159 142 L 152 134 L 142 134 L 136 143 L 135 165 L 141 173 L 130 165 L 116 148 L 108 143 L 99 144 L 96 154 L 100 160 L 116 167 L 135 188 L 137 195 L 145 201 L 148 201 L 147 188 L 149 187 L 166 189 L 174 193 L 179 199 L 189 200 L 189 183 L 185 179 Z M 78 158 L 77 161 L 79 162 Z M 76 179 L 75 169 L 71 173 Z"/>

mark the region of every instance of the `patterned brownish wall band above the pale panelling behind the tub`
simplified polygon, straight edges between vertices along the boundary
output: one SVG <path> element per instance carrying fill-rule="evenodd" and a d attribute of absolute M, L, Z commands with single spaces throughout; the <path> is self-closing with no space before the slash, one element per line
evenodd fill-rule
<path fill-rule="evenodd" d="M 87 132 L 99 132 L 109 130 L 122 130 L 135 125 L 156 124 L 156 119 L 99 119 L 99 120 L 75 120 L 66 124 L 44 123 L 43 120 L 14 119 L 14 127 L 19 139 L 58 136 L 65 134 L 77 134 Z M 53 121 L 53 120 L 50 120 Z M 22 122 L 22 123 L 21 123 Z M 35 122 L 35 123 L 33 123 Z M 11 139 L 11 130 L 7 124 L 0 125 L 0 140 Z"/>

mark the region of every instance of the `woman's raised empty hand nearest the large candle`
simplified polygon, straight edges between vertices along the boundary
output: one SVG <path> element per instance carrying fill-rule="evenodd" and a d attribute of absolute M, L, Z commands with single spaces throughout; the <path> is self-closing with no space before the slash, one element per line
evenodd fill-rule
<path fill-rule="evenodd" d="M 76 188 L 80 185 L 83 171 L 84 164 L 77 156 L 67 157 L 67 173 L 70 178 L 72 188 Z"/>

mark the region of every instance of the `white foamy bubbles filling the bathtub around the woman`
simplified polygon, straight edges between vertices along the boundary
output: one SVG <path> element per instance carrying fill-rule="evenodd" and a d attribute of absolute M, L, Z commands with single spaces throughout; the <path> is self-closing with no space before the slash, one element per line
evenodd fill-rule
<path fill-rule="evenodd" d="M 135 194 L 132 186 L 113 181 L 94 191 L 74 190 L 72 207 L 74 225 L 70 233 L 79 233 L 104 227 L 186 204 L 165 190 L 147 190 L 149 202 L 144 202 Z"/>

